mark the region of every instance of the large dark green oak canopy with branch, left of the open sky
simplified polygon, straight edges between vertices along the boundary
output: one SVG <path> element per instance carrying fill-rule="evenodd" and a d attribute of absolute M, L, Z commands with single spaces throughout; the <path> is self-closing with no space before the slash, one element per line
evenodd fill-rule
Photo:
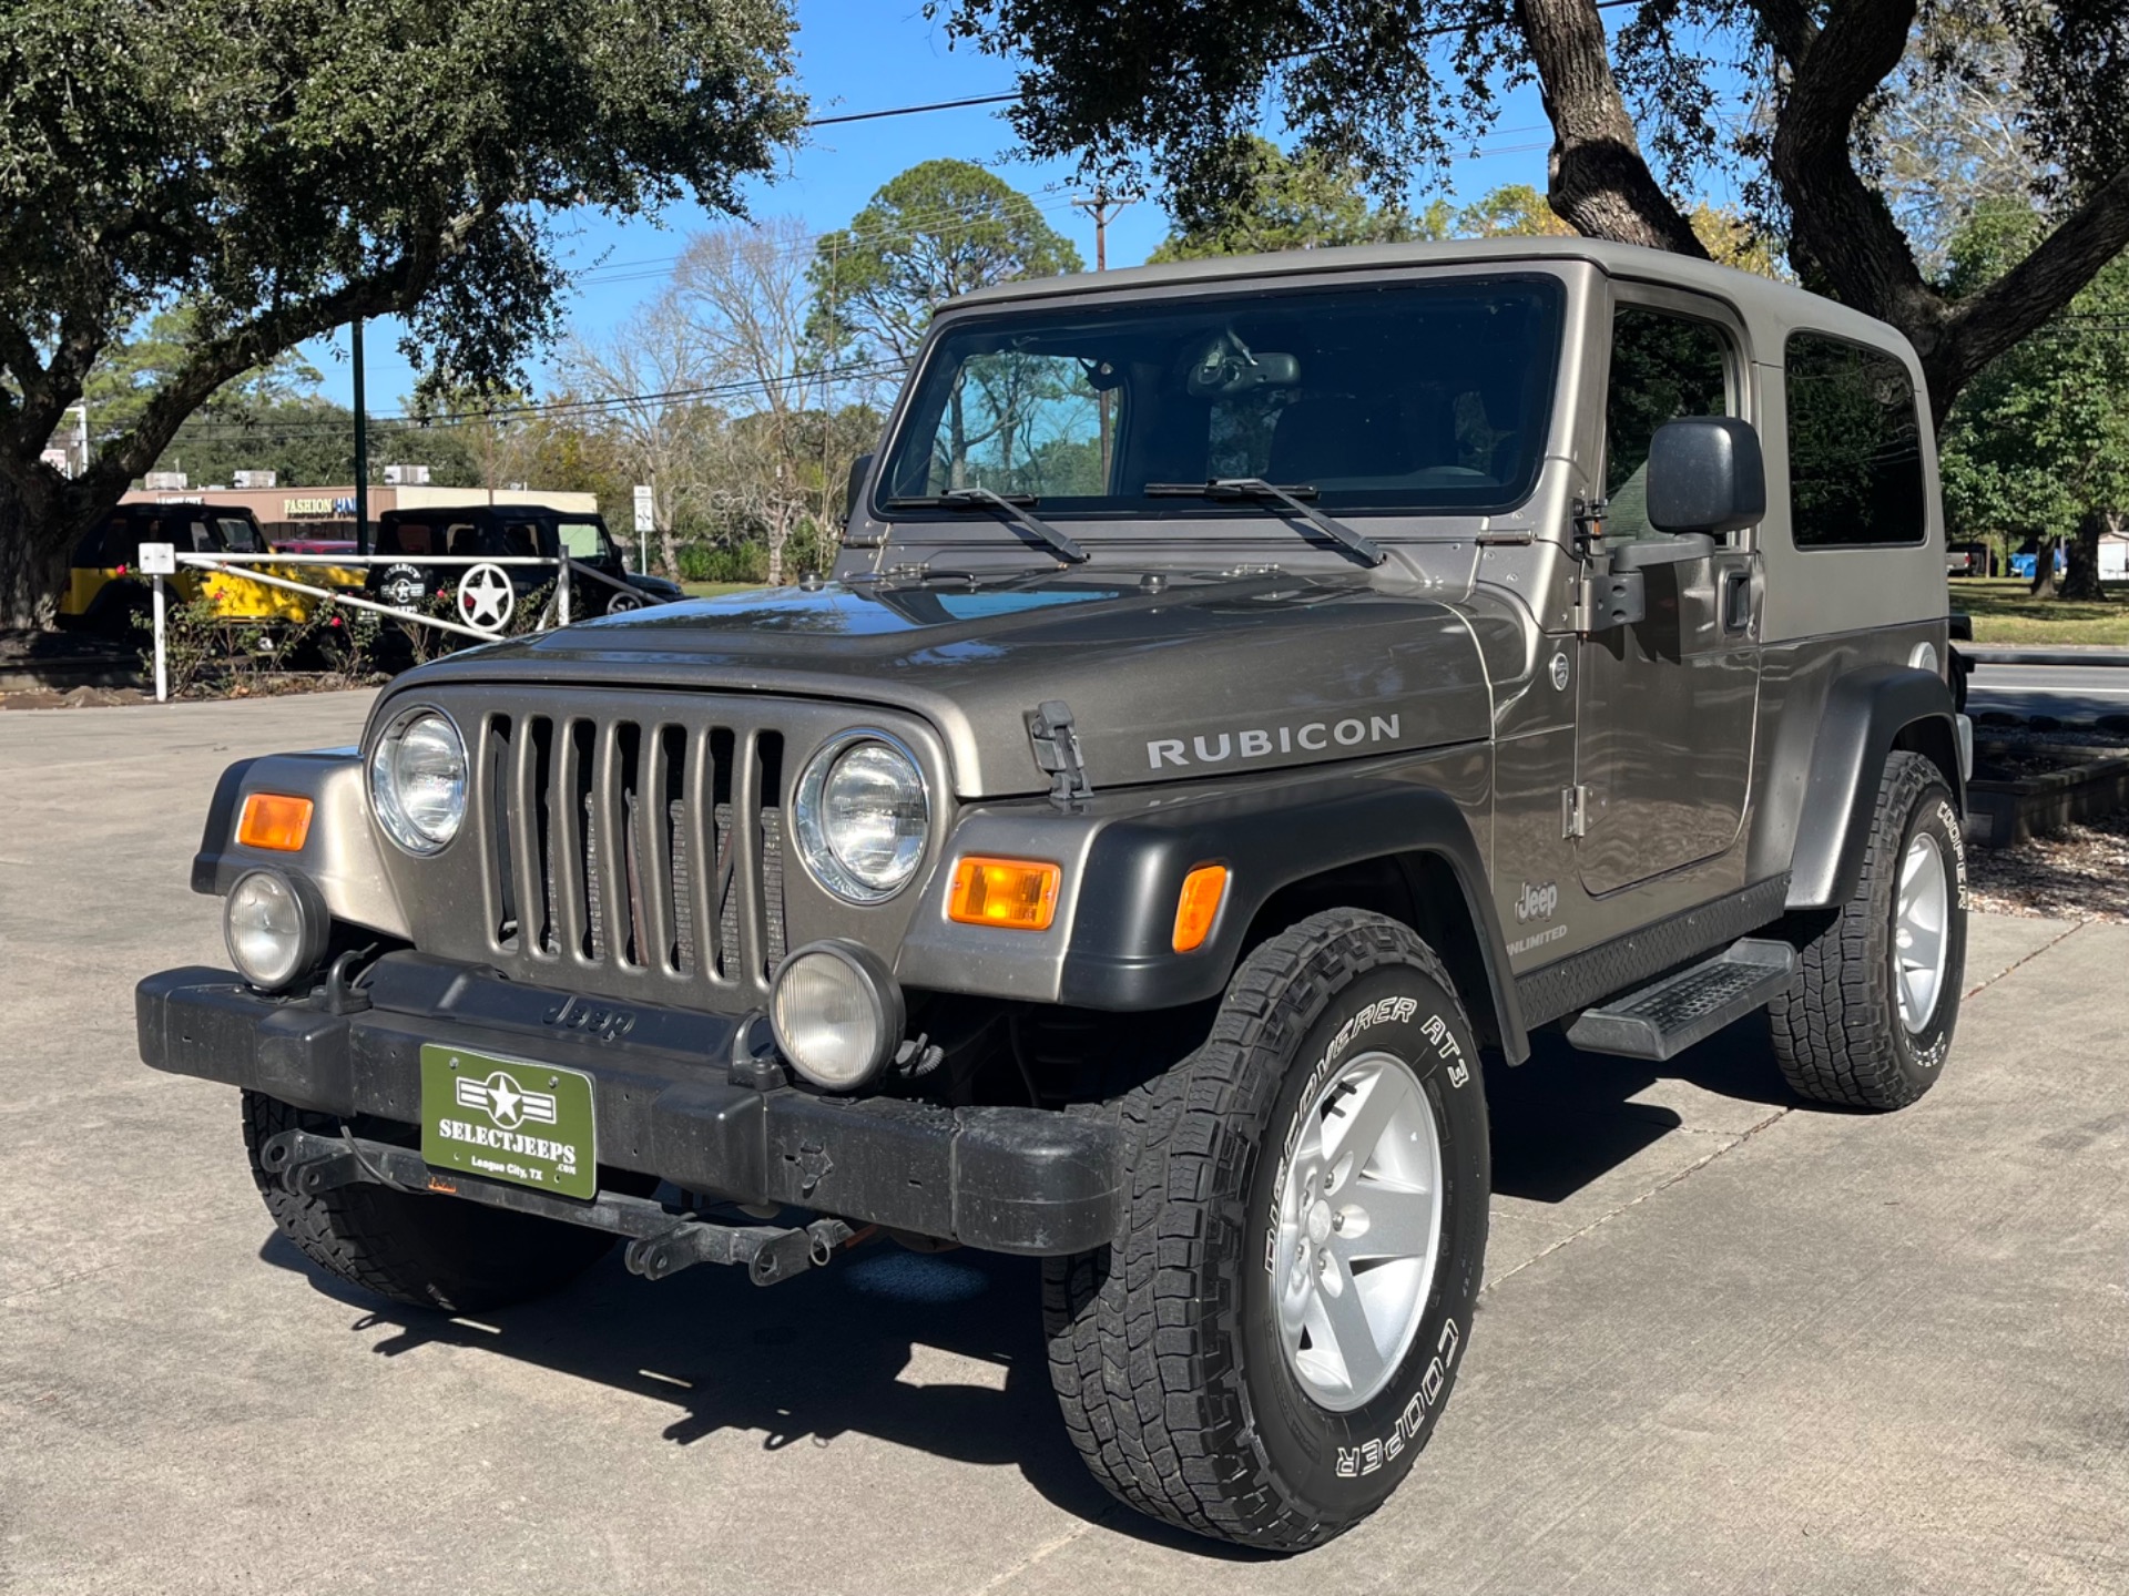
<path fill-rule="evenodd" d="M 417 364 L 507 381 L 556 330 L 564 215 L 743 209 L 741 179 L 803 117 L 790 32 L 788 0 L 13 0 L 0 498 L 34 541 L 17 566 L 49 579 L 209 394 L 351 317 L 405 315 Z M 92 364 L 179 302 L 132 426 L 62 481 L 38 453 Z"/>

